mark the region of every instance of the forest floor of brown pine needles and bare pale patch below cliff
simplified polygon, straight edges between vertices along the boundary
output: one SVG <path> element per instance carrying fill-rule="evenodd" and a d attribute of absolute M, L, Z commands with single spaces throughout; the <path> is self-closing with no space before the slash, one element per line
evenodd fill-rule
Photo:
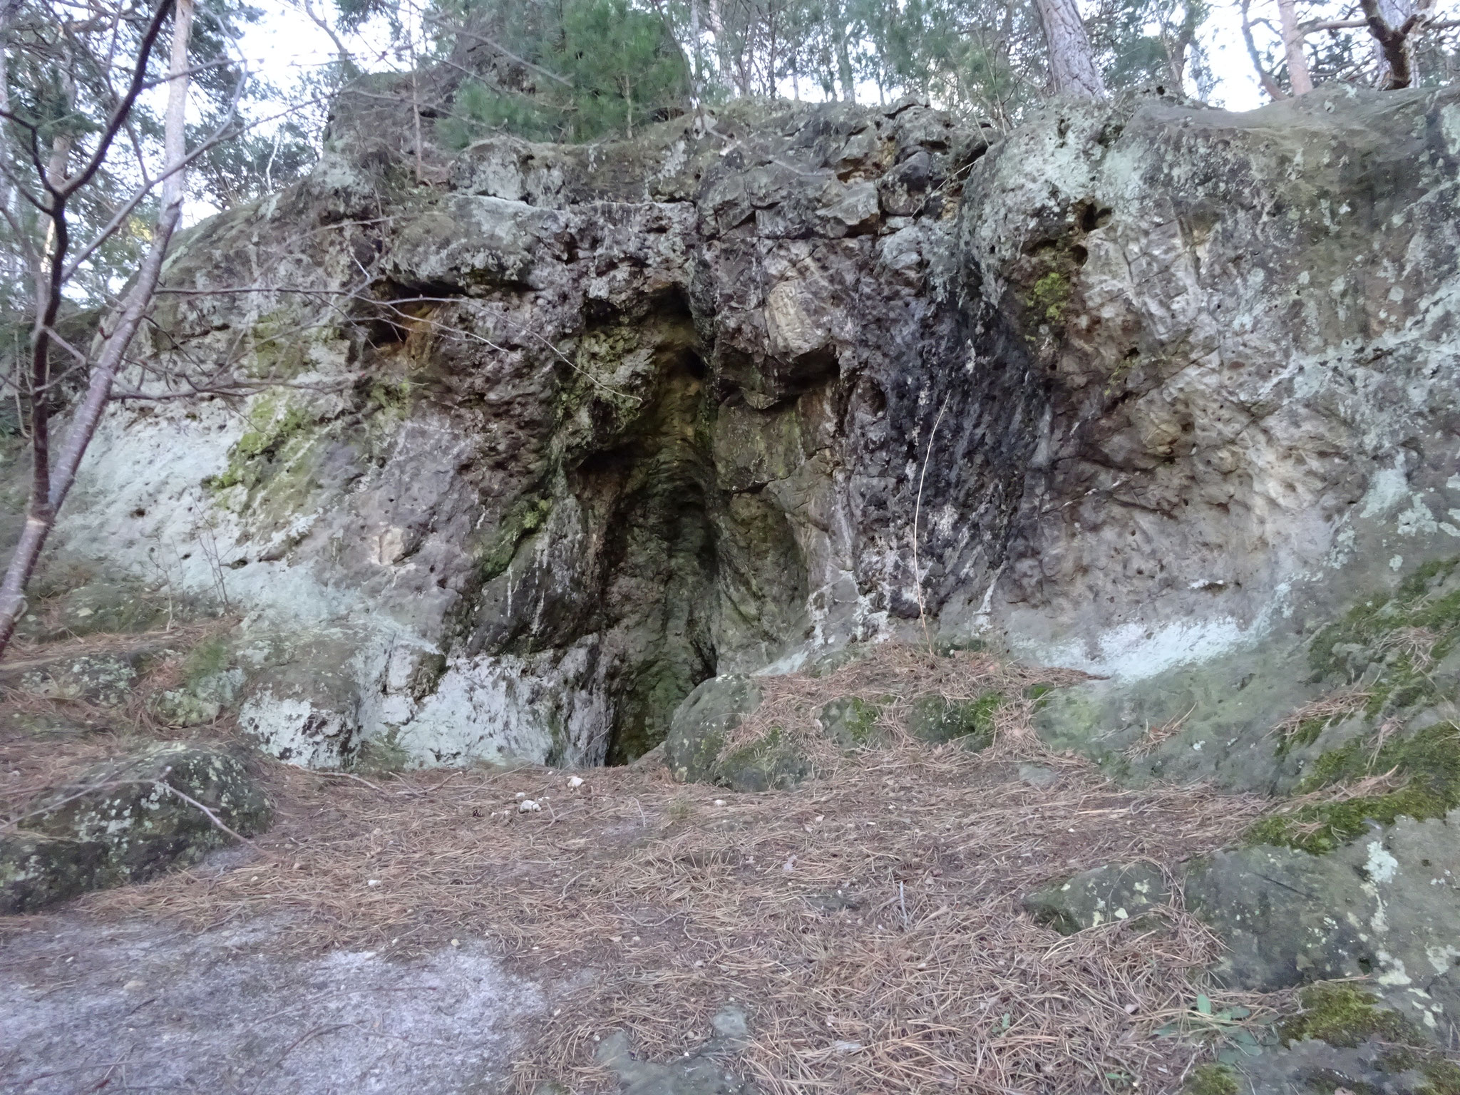
<path fill-rule="evenodd" d="M 838 673 L 917 672 L 883 661 Z M 6 729 L 45 714 L 10 692 L 0 806 L 139 737 L 231 740 L 147 720 L 169 673 L 121 711 L 69 704 L 86 731 L 44 745 Z M 258 758 L 263 835 L 0 918 L 0 1091 L 1177 1091 L 1285 1002 L 1213 988 L 1219 945 L 1178 907 L 1061 936 L 1022 898 L 1231 845 L 1269 803 L 1123 790 L 1026 711 L 978 752 L 901 734 L 755 794 L 653 755 L 369 778 Z"/>

